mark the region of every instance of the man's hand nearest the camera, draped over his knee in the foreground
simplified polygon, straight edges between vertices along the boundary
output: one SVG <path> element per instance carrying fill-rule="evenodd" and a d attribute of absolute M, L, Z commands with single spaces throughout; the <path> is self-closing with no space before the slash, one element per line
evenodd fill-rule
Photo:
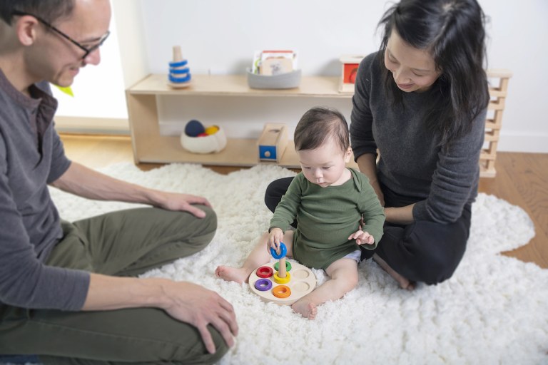
<path fill-rule="evenodd" d="M 208 331 L 208 324 L 217 329 L 228 346 L 234 345 L 238 324 L 232 304 L 219 294 L 191 282 L 164 284 L 166 295 L 172 303 L 164 308 L 173 318 L 192 324 L 200 331 L 206 349 L 215 353 L 215 344 Z"/>

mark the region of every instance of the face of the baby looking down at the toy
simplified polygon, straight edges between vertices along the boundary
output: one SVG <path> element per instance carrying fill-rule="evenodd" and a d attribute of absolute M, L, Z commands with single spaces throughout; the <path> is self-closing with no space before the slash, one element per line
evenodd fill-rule
<path fill-rule="evenodd" d="M 328 187 L 341 185 L 347 180 L 344 175 L 345 165 L 350 160 L 352 152 L 350 148 L 342 152 L 333 138 L 314 150 L 300 150 L 297 154 L 300 168 L 310 183 Z"/>

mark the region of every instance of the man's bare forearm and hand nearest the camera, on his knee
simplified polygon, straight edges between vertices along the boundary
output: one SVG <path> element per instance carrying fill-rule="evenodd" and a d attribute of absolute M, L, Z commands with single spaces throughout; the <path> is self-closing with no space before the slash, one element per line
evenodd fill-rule
<path fill-rule="evenodd" d="M 213 354 L 215 344 L 208 331 L 211 324 L 233 346 L 238 324 L 232 305 L 219 294 L 191 282 L 162 278 L 110 277 L 90 274 L 84 311 L 153 307 L 193 325 L 200 331 L 205 347 Z"/>

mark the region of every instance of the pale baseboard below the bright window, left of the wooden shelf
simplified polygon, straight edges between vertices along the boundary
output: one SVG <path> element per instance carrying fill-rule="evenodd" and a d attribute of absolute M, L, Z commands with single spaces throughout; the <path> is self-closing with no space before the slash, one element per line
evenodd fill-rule
<path fill-rule="evenodd" d="M 129 123 L 123 118 L 55 117 L 56 130 L 61 133 L 129 135 Z"/>

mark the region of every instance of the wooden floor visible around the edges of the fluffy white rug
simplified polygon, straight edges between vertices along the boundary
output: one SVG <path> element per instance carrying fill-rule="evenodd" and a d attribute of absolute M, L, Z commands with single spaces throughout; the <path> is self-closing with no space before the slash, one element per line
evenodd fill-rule
<path fill-rule="evenodd" d="M 61 135 L 66 154 L 91 168 L 112 163 L 133 163 L 131 140 L 127 136 Z M 161 165 L 141 164 L 141 170 Z M 212 167 L 218 173 L 238 168 Z M 534 222 L 536 235 L 528 245 L 504 255 L 548 268 L 548 154 L 497 153 L 497 176 L 482 178 L 480 192 L 495 195 L 522 207 Z"/>

